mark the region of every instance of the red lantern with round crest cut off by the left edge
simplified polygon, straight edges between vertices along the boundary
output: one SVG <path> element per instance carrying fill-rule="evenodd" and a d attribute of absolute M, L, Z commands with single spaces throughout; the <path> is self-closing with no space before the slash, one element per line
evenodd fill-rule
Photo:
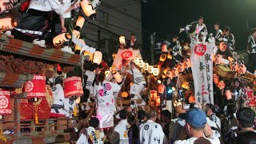
<path fill-rule="evenodd" d="M 0 89 L 0 115 L 10 115 L 10 90 Z"/>

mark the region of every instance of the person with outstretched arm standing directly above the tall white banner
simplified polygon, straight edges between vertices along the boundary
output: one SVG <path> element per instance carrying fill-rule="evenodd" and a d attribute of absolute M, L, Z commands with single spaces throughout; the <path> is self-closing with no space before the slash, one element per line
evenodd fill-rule
<path fill-rule="evenodd" d="M 190 34 L 191 38 L 196 38 L 201 42 L 206 41 L 208 31 L 206 25 L 203 23 L 202 16 L 198 18 L 198 22 L 191 22 L 186 27 L 181 28 L 179 33 L 181 33 L 184 30 L 186 30 Z"/>

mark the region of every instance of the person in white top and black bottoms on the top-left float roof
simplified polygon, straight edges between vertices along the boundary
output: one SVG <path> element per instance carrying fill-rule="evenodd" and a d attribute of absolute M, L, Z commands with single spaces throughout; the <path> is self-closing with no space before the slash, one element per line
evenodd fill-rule
<path fill-rule="evenodd" d="M 70 12 L 67 11 L 65 13 L 70 8 L 70 3 L 70 0 L 63 3 L 58 0 L 30 1 L 27 12 L 22 14 L 18 26 L 11 31 L 11 34 L 23 41 L 46 47 L 44 38 L 48 30 L 50 30 L 51 11 L 54 10 L 60 16 L 62 31 L 66 32 L 64 18 L 70 18 Z M 76 3 L 70 10 L 78 6 L 80 4 Z"/>

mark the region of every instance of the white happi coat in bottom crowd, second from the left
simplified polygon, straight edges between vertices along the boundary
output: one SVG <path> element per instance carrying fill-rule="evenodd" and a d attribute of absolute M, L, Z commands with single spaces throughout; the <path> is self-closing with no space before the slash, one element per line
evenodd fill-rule
<path fill-rule="evenodd" d="M 120 135 L 119 143 L 129 144 L 128 131 L 130 128 L 130 124 L 127 122 L 127 119 L 123 119 L 118 122 L 118 125 L 114 127 L 114 131 L 118 132 Z"/>

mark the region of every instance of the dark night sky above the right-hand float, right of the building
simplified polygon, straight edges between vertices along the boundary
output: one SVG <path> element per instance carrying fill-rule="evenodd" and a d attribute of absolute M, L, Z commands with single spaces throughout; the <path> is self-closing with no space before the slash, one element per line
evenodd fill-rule
<path fill-rule="evenodd" d="M 147 0 L 142 2 L 143 50 L 150 46 L 149 33 L 156 32 L 158 39 L 178 35 L 180 26 L 194 22 L 202 15 L 208 33 L 215 33 L 214 22 L 221 29 L 230 26 L 236 39 L 236 49 L 246 49 L 248 32 L 256 26 L 256 0 Z"/>

